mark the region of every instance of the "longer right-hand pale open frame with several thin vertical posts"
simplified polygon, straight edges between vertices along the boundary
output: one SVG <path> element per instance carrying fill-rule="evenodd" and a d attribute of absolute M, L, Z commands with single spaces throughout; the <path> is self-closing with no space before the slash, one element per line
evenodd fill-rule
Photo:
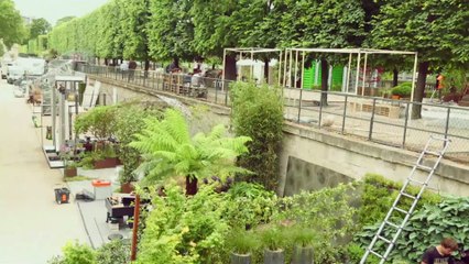
<path fill-rule="evenodd" d="M 368 55 L 370 54 L 388 54 L 388 55 L 414 55 L 414 67 L 413 67 L 413 74 L 412 74 L 412 94 L 411 94 L 411 101 L 414 99 L 414 89 L 415 89 L 415 79 L 416 79 L 416 72 L 417 72 L 417 63 L 418 63 L 418 53 L 417 52 L 406 52 L 406 51 L 388 51 L 388 50 L 374 50 L 374 48 L 302 48 L 302 47 L 290 47 L 285 48 L 285 57 L 284 57 L 284 66 L 283 66 L 283 86 L 284 87 L 291 87 L 291 76 L 292 76 L 292 64 L 293 61 L 295 63 L 295 82 L 297 82 L 297 72 L 298 72 L 298 55 L 302 53 L 302 79 L 301 79 L 301 88 L 303 89 L 303 79 L 304 79 L 304 65 L 305 65 L 305 56 L 307 53 L 328 53 L 328 54 L 348 54 L 349 55 L 349 62 L 348 62 L 348 70 L 347 70 L 347 78 L 346 78 L 346 91 L 349 91 L 349 84 L 350 84 L 350 73 L 351 73 L 351 62 L 353 58 L 353 55 L 357 56 L 357 74 L 356 74 L 356 81 L 355 81 L 355 92 L 358 95 L 358 84 L 359 84 L 359 75 L 360 75 L 360 66 L 361 66 L 361 59 L 362 56 L 364 57 L 363 63 L 363 77 L 362 77 L 362 89 L 361 89 L 361 96 L 364 96 L 364 87 L 366 87 L 366 79 L 367 79 L 367 63 L 368 63 Z M 293 59 L 293 54 L 295 54 L 295 59 Z M 288 62 L 288 65 L 286 63 Z M 288 67 L 287 67 L 288 66 Z M 287 70 L 288 68 L 288 70 Z M 280 70 L 279 70 L 280 73 Z M 288 81 L 287 81 L 288 80 Z"/>

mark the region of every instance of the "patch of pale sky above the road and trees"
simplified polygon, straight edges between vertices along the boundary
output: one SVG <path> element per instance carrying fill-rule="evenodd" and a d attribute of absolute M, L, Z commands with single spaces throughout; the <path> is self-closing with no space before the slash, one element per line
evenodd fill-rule
<path fill-rule="evenodd" d="M 21 15 L 46 19 L 53 26 L 64 16 L 83 16 L 108 0 L 13 0 Z"/>

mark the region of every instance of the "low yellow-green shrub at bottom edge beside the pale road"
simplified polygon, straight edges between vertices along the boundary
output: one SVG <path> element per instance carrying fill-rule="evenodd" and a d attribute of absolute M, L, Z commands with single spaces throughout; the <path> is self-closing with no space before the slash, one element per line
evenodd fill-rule
<path fill-rule="evenodd" d="M 54 256 L 47 263 L 50 264 L 97 264 L 95 251 L 87 244 L 80 244 L 77 241 L 67 242 L 62 248 L 63 256 Z"/>

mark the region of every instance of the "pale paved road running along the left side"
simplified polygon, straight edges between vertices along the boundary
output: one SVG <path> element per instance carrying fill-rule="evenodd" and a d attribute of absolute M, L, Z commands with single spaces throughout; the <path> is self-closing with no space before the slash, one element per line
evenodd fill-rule
<path fill-rule="evenodd" d="M 39 129 L 24 98 L 0 80 L 0 264 L 43 264 L 69 240 L 88 242 L 76 204 L 57 205 Z"/>

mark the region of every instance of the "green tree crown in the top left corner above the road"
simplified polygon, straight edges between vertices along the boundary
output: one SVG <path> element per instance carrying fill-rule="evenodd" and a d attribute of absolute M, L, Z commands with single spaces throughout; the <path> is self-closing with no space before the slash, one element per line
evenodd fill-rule
<path fill-rule="evenodd" d="M 0 0 L 0 37 L 7 48 L 21 43 L 25 36 L 23 19 L 11 0 Z"/>

